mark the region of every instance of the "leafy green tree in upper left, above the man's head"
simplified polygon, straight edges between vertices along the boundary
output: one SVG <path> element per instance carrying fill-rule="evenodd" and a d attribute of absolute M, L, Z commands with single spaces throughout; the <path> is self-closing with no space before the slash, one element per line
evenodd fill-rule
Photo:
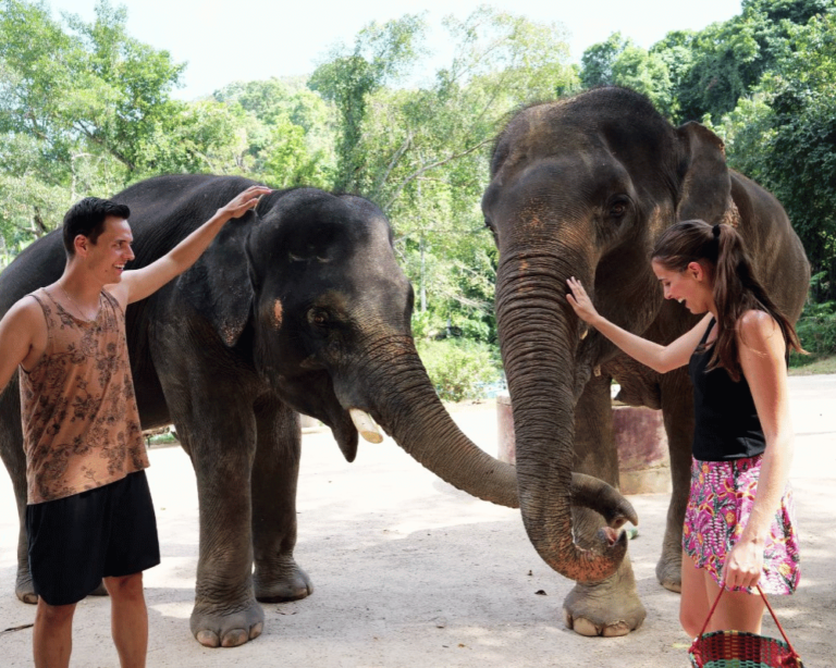
<path fill-rule="evenodd" d="M 78 197 L 163 172 L 235 171 L 231 110 L 176 102 L 184 65 L 125 32 L 107 1 L 63 22 L 0 0 L 0 234 L 5 252 L 56 226 Z"/>

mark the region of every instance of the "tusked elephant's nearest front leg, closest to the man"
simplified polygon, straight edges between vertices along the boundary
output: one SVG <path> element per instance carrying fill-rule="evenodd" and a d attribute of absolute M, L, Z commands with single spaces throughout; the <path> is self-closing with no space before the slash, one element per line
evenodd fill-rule
<path fill-rule="evenodd" d="M 245 393 L 213 394 L 217 388 L 206 385 L 163 384 L 163 391 L 197 477 L 200 546 L 192 633 L 201 645 L 232 647 L 260 635 L 265 622 L 253 589 L 256 419 Z"/>

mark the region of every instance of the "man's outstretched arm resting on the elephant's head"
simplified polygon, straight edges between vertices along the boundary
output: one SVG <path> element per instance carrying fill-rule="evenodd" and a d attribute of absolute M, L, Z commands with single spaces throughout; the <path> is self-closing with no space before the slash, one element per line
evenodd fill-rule
<path fill-rule="evenodd" d="M 169 281 L 182 274 L 192 267 L 202 252 L 212 243 L 218 235 L 233 218 L 241 218 L 255 209 L 258 199 L 262 195 L 271 193 L 271 189 L 265 186 L 250 186 L 226 206 L 218 209 L 216 214 L 189 234 L 185 239 L 172 248 L 167 255 L 155 262 L 143 267 L 142 269 L 126 271 L 122 274 L 122 281 L 113 285 L 108 285 L 107 289 L 119 299 L 122 307 L 128 304 L 145 299 L 152 295 Z"/>

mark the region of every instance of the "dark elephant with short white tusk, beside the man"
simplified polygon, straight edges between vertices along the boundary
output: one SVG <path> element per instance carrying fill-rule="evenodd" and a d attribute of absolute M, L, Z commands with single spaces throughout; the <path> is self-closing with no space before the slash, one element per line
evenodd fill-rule
<path fill-rule="evenodd" d="M 168 175 L 115 195 L 132 212 L 132 267 L 168 252 L 249 185 Z M 60 231 L 30 245 L 0 274 L 0 316 L 56 281 L 63 265 Z M 190 269 L 127 308 L 143 426 L 173 423 L 197 478 L 190 628 L 201 644 L 243 644 L 262 631 L 259 602 L 314 591 L 293 556 L 298 413 L 328 425 L 348 461 L 358 432 L 382 438 L 377 422 L 456 487 L 517 506 L 513 468 L 467 440 L 439 400 L 415 349 L 411 309 L 413 288 L 382 211 L 358 196 L 308 187 L 263 196 Z M 21 515 L 15 592 L 34 603 L 19 393 L 15 379 L 0 396 L 0 456 Z M 635 519 L 629 503 L 593 479 L 575 477 L 571 494 L 612 527 Z"/>

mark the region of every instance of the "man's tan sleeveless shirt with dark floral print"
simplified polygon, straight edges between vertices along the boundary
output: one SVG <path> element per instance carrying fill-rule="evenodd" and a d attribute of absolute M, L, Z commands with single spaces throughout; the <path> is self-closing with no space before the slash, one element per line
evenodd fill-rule
<path fill-rule="evenodd" d="M 125 314 L 107 290 L 95 321 L 44 288 L 47 349 L 20 369 L 28 503 L 72 496 L 148 467 L 127 358 Z"/>

